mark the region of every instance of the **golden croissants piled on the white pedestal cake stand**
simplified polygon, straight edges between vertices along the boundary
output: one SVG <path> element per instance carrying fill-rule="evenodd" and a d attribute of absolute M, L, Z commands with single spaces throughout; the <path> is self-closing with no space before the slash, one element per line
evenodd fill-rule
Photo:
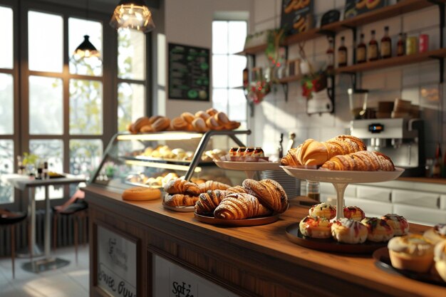
<path fill-rule="evenodd" d="M 282 157 L 281 165 L 316 165 L 326 170 L 395 170 L 390 157 L 380 152 L 369 152 L 362 140 L 351 135 L 339 135 L 326 142 L 305 140 Z"/>

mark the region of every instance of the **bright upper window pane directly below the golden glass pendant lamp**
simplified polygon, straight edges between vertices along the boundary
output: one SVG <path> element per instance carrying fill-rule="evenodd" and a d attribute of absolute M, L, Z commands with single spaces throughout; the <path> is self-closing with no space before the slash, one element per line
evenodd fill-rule
<path fill-rule="evenodd" d="M 145 34 L 118 31 L 118 78 L 145 80 Z"/>

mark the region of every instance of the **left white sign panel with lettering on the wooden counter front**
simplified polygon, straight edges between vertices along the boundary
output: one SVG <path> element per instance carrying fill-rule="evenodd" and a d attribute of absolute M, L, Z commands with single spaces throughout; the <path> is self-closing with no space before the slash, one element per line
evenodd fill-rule
<path fill-rule="evenodd" d="M 98 286 L 114 297 L 136 297 L 136 244 L 101 226 Z"/>

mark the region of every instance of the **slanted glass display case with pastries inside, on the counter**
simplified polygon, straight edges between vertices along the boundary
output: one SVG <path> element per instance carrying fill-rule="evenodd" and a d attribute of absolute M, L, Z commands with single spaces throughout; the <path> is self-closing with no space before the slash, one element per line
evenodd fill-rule
<path fill-rule="evenodd" d="M 245 146 L 237 135 L 249 134 L 250 130 L 117 134 L 105 149 L 90 183 L 118 190 L 163 187 L 175 177 L 240 184 L 243 172 L 222 170 L 212 160 L 227 155 L 231 147 Z"/>

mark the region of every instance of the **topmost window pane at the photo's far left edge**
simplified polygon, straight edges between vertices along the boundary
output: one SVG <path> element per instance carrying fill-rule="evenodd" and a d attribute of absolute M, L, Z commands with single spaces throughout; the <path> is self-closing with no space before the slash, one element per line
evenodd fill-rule
<path fill-rule="evenodd" d="M 12 9 L 9 7 L 0 6 L 0 40 L 1 40 L 1 55 L 0 68 L 13 67 L 13 29 L 12 29 Z"/>

